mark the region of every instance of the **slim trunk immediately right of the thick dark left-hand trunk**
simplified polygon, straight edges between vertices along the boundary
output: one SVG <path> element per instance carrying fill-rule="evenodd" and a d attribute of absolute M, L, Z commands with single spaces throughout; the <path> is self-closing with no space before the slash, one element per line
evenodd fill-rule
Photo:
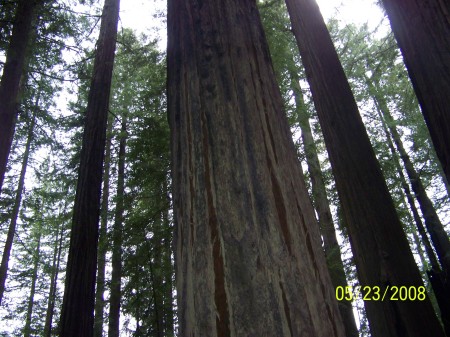
<path fill-rule="evenodd" d="M 111 140 L 112 127 L 114 119 L 112 115 L 108 118 L 108 127 L 106 130 L 106 150 L 105 150 L 105 164 L 103 171 L 103 191 L 102 191 L 102 205 L 100 211 L 100 230 L 98 242 L 98 258 L 97 258 L 97 281 L 95 289 L 95 309 L 94 309 L 94 337 L 103 336 L 103 321 L 105 310 L 105 299 L 103 294 L 105 292 L 105 266 L 106 266 L 106 252 L 108 250 L 108 200 L 109 200 L 109 174 L 111 162 Z"/>

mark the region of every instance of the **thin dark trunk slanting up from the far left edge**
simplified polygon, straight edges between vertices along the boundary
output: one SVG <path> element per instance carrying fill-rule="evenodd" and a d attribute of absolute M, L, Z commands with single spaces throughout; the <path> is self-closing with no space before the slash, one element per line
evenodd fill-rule
<path fill-rule="evenodd" d="M 36 99 L 36 106 L 38 105 L 38 102 L 39 97 Z M 25 186 L 25 174 L 27 172 L 28 159 L 30 157 L 31 142 L 33 141 L 34 135 L 33 132 L 35 123 L 36 123 L 36 116 L 35 113 L 33 113 L 33 117 L 31 119 L 30 126 L 28 129 L 27 143 L 25 145 L 25 152 L 23 154 L 22 169 L 20 170 L 19 183 L 17 185 L 16 198 L 14 200 L 14 207 L 11 214 L 11 221 L 9 223 L 8 234 L 6 236 L 6 242 L 3 248 L 2 264 L 0 265 L 0 304 L 2 302 L 3 294 L 5 292 L 6 277 L 8 275 L 9 258 L 11 256 L 12 244 L 14 241 L 14 235 L 16 233 L 17 218 L 19 216 L 20 204 L 22 201 L 22 192 Z"/>

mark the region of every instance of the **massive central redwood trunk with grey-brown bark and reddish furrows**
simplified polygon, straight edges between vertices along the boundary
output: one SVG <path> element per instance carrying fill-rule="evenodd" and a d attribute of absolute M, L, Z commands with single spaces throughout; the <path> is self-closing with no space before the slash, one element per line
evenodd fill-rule
<path fill-rule="evenodd" d="M 255 1 L 170 0 L 181 336 L 344 336 Z"/>

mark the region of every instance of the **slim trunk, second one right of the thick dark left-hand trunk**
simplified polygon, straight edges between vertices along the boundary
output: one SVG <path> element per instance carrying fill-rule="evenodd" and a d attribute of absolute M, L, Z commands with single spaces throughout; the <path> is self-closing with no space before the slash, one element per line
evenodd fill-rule
<path fill-rule="evenodd" d="M 109 329 L 108 337 L 119 337 L 121 280 L 122 280 L 122 231 L 124 222 L 124 197 L 125 197 L 125 147 L 126 147 L 127 121 L 122 116 L 120 130 L 119 162 L 117 169 L 117 196 L 116 212 L 113 227 L 112 242 L 112 272 L 111 272 L 111 296 L 109 298 Z"/>

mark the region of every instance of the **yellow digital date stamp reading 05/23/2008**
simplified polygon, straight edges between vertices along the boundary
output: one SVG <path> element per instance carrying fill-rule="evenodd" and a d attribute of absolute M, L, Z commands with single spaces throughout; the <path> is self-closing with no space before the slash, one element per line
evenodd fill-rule
<path fill-rule="evenodd" d="M 427 296 L 424 286 L 338 286 L 336 299 L 338 301 L 423 301 Z"/>

